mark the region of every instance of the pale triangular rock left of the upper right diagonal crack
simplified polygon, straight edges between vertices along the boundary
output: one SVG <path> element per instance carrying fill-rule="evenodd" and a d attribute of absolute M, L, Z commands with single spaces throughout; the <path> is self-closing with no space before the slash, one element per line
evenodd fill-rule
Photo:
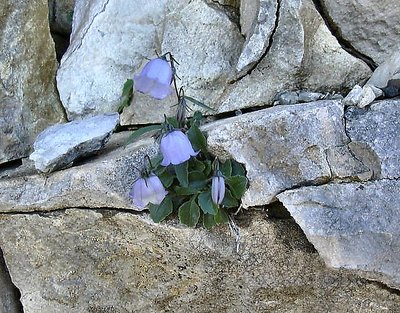
<path fill-rule="evenodd" d="M 278 25 L 268 53 L 248 75 L 227 86 L 218 112 L 272 105 L 281 91 L 345 92 L 370 76 L 363 61 L 341 48 L 312 1 L 279 3 Z"/>

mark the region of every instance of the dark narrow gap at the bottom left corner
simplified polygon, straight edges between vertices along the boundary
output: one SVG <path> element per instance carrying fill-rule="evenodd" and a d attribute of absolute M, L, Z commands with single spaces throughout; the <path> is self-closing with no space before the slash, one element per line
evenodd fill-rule
<path fill-rule="evenodd" d="M 0 311 L 4 313 L 23 313 L 21 293 L 13 284 L 3 251 L 0 249 Z"/>

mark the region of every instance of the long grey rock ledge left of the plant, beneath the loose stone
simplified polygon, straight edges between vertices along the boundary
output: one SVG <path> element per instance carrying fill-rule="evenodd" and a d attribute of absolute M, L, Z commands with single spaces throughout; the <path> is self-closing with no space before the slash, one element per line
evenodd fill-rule
<path fill-rule="evenodd" d="M 0 179 L 0 212 L 49 211 L 70 207 L 140 210 L 129 191 L 146 154 L 156 153 L 154 140 L 145 138 L 124 147 L 127 134 L 114 136 L 99 156 L 50 175 L 32 174 Z"/>

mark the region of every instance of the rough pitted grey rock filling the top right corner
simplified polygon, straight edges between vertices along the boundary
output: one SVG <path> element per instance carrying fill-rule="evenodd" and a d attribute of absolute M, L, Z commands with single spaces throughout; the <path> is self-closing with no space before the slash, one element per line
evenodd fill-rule
<path fill-rule="evenodd" d="M 400 48 L 400 6 L 393 0 L 319 0 L 324 15 L 353 50 L 378 65 Z"/>

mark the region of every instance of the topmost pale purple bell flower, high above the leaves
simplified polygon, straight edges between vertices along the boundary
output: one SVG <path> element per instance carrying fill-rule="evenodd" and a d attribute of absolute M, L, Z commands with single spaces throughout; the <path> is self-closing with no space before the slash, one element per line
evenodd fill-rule
<path fill-rule="evenodd" d="M 149 61 L 142 72 L 135 75 L 135 89 L 161 100 L 171 94 L 172 68 L 169 63 L 161 58 Z"/>

